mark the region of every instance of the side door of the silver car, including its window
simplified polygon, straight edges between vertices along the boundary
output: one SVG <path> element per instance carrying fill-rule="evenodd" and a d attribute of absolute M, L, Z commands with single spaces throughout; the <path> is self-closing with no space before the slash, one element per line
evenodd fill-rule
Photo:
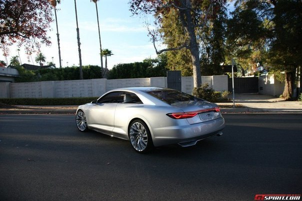
<path fill-rule="evenodd" d="M 123 102 L 122 92 L 115 91 L 102 96 L 89 108 L 89 126 L 110 134 L 114 128 L 116 105 Z"/>

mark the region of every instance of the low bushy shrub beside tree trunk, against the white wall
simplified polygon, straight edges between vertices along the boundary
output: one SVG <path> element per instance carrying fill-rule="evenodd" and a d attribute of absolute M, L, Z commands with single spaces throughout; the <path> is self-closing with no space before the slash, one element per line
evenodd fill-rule
<path fill-rule="evenodd" d="M 202 98 L 209 102 L 220 102 L 222 99 L 221 93 L 209 88 L 208 83 L 201 84 L 200 87 L 194 88 L 193 96 Z"/>

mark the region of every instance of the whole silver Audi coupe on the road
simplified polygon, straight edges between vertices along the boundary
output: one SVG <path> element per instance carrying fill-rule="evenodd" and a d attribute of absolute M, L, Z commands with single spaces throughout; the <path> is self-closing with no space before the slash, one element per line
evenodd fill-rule
<path fill-rule="evenodd" d="M 78 106 L 76 126 L 129 140 L 136 152 L 153 147 L 195 145 L 222 135 L 224 119 L 219 107 L 203 99 L 167 88 L 120 88 L 91 103 Z"/>

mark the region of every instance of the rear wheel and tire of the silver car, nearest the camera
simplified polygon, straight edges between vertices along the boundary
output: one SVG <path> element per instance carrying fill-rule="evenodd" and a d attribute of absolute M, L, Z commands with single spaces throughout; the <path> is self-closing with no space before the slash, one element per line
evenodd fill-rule
<path fill-rule="evenodd" d="M 138 153 L 147 153 L 153 149 L 152 137 L 148 126 L 137 119 L 131 122 L 128 129 L 130 144 Z"/>

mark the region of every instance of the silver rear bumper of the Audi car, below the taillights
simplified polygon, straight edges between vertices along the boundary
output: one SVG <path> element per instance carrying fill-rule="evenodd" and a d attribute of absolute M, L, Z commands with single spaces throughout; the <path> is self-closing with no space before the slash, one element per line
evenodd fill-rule
<path fill-rule="evenodd" d="M 222 117 L 198 124 L 169 126 L 152 129 L 153 145 L 155 147 L 179 144 L 182 147 L 195 145 L 197 141 L 214 135 L 221 135 L 224 128 Z"/>

